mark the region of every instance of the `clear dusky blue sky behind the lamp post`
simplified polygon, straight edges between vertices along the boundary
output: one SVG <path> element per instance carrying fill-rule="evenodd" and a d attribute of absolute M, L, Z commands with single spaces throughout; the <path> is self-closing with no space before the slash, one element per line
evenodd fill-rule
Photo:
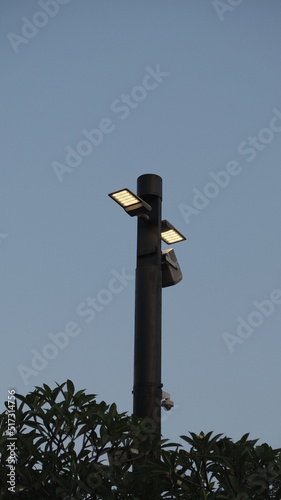
<path fill-rule="evenodd" d="M 163 435 L 281 446 L 280 1 L 0 11 L 1 408 L 70 378 L 132 411 L 136 220 L 107 194 L 155 173 L 187 237 L 163 290 Z"/>

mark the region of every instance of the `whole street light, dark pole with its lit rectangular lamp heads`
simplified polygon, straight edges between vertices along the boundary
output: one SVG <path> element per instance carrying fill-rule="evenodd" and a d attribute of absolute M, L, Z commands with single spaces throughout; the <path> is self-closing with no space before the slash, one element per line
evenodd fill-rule
<path fill-rule="evenodd" d="M 166 394 L 161 383 L 162 287 L 182 279 L 173 249 L 162 252 L 161 239 L 170 245 L 186 238 L 161 220 L 162 179 L 158 175 L 141 175 L 137 195 L 125 188 L 109 196 L 130 216 L 138 216 L 133 413 L 149 417 L 160 439 L 161 401 Z"/>

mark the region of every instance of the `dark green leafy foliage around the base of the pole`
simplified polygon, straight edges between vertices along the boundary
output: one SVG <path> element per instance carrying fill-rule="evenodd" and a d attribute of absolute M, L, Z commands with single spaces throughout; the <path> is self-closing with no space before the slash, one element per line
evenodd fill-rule
<path fill-rule="evenodd" d="M 190 432 L 181 436 L 186 447 L 162 440 L 159 448 L 148 419 L 118 413 L 70 380 L 15 395 L 12 410 L 7 403 L 0 415 L 3 500 L 281 499 L 280 450 L 248 434 L 233 442 Z M 7 482 L 11 434 L 14 489 Z"/>

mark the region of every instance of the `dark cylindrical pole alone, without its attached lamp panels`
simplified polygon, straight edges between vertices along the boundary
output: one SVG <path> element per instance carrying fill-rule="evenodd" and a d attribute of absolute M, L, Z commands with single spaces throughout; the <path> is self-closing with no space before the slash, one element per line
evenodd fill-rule
<path fill-rule="evenodd" d="M 161 205 L 162 179 L 138 178 L 137 194 L 151 205 L 149 220 L 138 218 L 134 408 L 137 417 L 149 417 L 161 436 Z"/>

